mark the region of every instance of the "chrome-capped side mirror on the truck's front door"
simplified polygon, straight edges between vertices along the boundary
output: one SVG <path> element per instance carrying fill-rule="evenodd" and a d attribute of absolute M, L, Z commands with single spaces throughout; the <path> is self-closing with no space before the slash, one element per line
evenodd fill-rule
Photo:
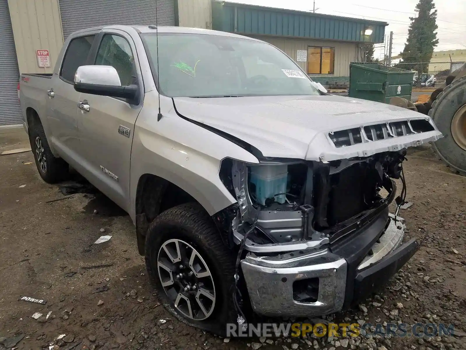
<path fill-rule="evenodd" d="M 137 85 L 122 86 L 118 72 L 112 66 L 80 66 L 75 74 L 75 90 L 93 95 L 126 98 L 135 102 Z"/>

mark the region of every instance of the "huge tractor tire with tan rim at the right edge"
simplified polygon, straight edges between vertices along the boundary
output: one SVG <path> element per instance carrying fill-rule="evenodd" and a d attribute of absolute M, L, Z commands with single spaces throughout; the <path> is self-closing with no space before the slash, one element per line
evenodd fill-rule
<path fill-rule="evenodd" d="M 429 116 L 444 135 L 433 148 L 455 173 L 466 176 L 466 76 L 445 87 Z"/>

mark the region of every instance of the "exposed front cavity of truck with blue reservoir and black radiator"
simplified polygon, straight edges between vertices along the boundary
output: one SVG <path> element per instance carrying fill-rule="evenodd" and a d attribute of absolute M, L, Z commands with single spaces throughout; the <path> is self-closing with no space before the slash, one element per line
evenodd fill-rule
<path fill-rule="evenodd" d="M 225 228 L 237 244 L 254 225 L 255 253 L 322 248 L 362 227 L 394 199 L 406 150 L 329 163 L 226 159 L 220 177 L 237 199 Z M 225 220 L 224 220 L 225 221 Z"/>

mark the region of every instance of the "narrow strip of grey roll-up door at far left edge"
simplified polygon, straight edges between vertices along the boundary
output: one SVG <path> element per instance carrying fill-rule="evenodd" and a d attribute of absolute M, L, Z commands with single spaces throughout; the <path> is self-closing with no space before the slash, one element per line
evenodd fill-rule
<path fill-rule="evenodd" d="M 21 124 L 16 87 L 19 81 L 7 0 L 0 0 L 0 125 Z"/>

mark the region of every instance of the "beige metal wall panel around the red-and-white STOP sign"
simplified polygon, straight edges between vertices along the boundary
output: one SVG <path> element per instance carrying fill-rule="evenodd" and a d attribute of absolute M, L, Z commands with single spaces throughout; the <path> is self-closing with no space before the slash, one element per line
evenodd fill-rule
<path fill-rule="evenodd" d="M 21 73 L 52 73 L 63 45 L 58 0 L 9 0 Z M 39 68 L 36 50 L 48 50 L 50 68 Z"/>

